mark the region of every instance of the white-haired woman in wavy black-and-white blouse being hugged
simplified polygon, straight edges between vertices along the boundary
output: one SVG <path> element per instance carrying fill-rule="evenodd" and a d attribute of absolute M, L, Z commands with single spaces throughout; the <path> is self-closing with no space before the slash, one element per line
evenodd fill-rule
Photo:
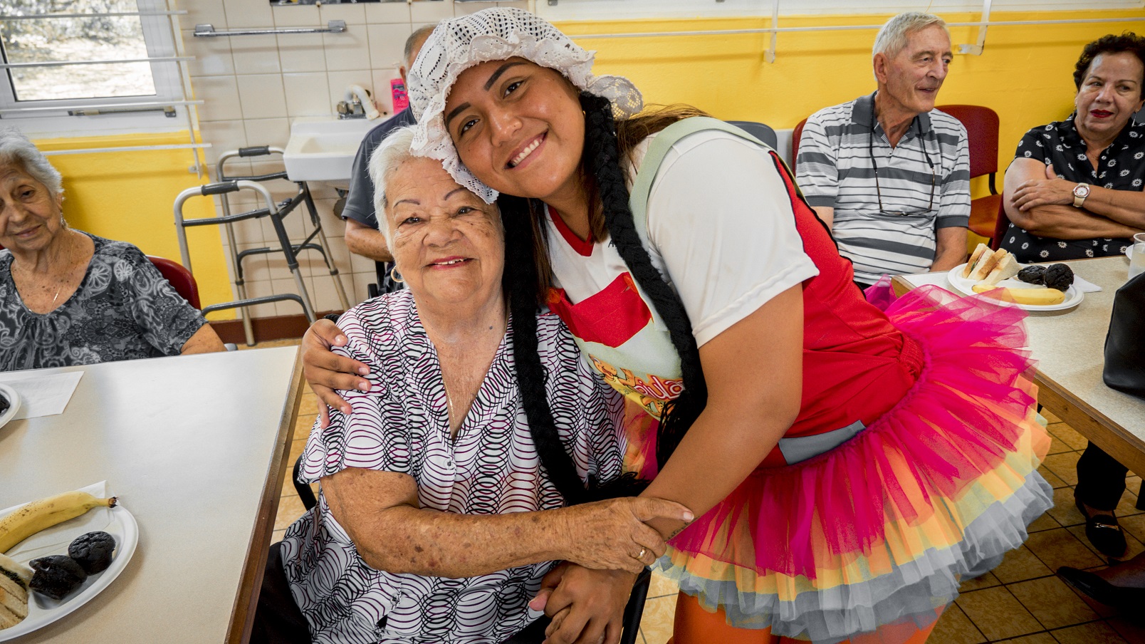
<path fill-rule="evenodd" d="M 348 409 L 310 433 L 318 504 L 271 547 L 252 642 L 540 642 L 529 602 L 552 561 L 635 572 L 665 548 L 645 520 L 692 518 L 656 498 L 572 505 L 626 480 L 623 401 L 555 315 L 510 320 L 497 206 L 411 141 L 395 131 L 370 162 L 408 289 L 338 322 L 370 392 L 341 392 Z M 527 335 L 539 355 L 514 352 Z"/>

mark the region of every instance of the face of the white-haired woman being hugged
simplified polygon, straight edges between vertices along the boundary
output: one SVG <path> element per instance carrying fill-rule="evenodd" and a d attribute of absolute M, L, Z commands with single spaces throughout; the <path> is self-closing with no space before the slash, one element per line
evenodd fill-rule
<path fill-rule="evenodd" d="M 414 298 L 480 305 L 500 294 L 505 234 L 497 206 L 458 186 L 441 162 L 411 158 L 389 173 L 386 225 Z"/>

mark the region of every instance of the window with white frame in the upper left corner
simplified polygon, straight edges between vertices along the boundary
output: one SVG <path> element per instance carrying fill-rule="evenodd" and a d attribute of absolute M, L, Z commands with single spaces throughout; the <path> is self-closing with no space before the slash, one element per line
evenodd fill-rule
<path fill-rule="evenodd" d="M 0 0 L 0 124 L 30 134 L 185 129 L 166 0 Z"/>

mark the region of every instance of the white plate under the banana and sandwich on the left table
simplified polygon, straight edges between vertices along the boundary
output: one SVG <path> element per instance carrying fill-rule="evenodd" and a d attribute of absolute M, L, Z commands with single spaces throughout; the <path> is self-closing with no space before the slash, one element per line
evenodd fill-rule
<path fill-rule="evenodd" d="M 96 484 L 82 489 L 103 497 L 105 496 L 104 487 L 104 484 Z M 0 517 L 8 515 L 21 505 L 0 510 Z M 21 635 L 26 635 L 58 619 L 63 619 L 102 592 L 127 567 L 127 561 L 132 559 L 132 555 L 135 553 L 135 545 L 139 544 L 140 529 L 139 524 L 135 523 L 135 517 L 123 504 L 117 504 L 111 509 L 97 508 L 88 510 L 85 515 L 37 533 L 21 542 L 14 550 L 7 552 L 17 563 L 27 565 L 30 560 L 37 557 L 66 555 L 68 544 L 73 539 L 94 531 L 103 531 L 116 537 L 116 552 L 111 559 L 111 566 L 102 573 L 96 573 L 87 578 L 87 581 L 78 590 L 60 602 L 45 597 L 39 592 L 30 592 L 27 616 L 14 627 L 0 630 L 0 642 L 7 642 Z"/>

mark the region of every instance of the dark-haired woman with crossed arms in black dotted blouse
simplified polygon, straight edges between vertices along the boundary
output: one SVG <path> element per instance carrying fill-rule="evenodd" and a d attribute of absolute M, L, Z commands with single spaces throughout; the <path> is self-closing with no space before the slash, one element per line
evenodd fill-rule
<path fill-rule="evenodd" d="M 1006 170 L 1002 248 L 1019 261 L 1114 256 L 1145 231 L 1145 38 L 1090 42 L 1074 85 L 1074 113 L 1027 132 Z"/>

